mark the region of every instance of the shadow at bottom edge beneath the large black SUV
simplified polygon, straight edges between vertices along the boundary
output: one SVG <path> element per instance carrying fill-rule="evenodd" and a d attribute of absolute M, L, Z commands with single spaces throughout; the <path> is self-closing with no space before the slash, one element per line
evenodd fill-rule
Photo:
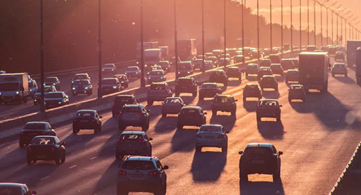
<path fill-rule="evenodd" d="M 284 195 L 284 188 L 282 180 L 271 181 L 240 181 L 240 194 L 241 195 Z"/>

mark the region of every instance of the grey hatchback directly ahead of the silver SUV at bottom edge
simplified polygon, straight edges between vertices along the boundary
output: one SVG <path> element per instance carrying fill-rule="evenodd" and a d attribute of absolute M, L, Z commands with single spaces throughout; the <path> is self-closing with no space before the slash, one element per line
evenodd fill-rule
<path fill-rule="evenodd" d="M 117 139 L 115 147 L 115 158 L 123 159 L 125 155 L 152 155 L 152 146 L 150 141 L 153 138 L 148 137 L 144 131 L 123 131 Z"/>

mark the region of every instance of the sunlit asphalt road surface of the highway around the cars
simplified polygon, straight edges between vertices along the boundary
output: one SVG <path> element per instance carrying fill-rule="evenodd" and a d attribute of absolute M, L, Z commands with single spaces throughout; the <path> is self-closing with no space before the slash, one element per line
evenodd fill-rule
<path fill-rule="evenodd" d="M 328 92 L 308 93 L 305 103 L 289 103 L 288 86 L 283 77 L 278 77 L 279 91 L 264 91 L 263 96 L 276 98 L 283 105 L 280 123 L 263 119 L 257 124 L 257 101 L 243 102 L 244 84 L 256 82 L 256 77 L 248 77 L 241 85 L 237 80 L 230 81 L 224 91 L 238 99 L 236 117 L 221 112 L 212 116 L 211 99 L 199 101 L 198 97 L 181 94 L 187 105 L 199 105 L 207 110 L 207 124 L 222 124 L 231 131 L 226 153 L 218 148 L 195 152 L 197 128 L 176 129 L 176 115 L 162 118 L 160 102 L 147 106 L 151 110 L 147 134 L 153 138 L 152 154 L 169 166 L 167 194 L 328 193 L 361 139 L 357 117 L 361 89 L 355 84 L 354 71 L 349 69 L 348 75 L 347 78 L 330 76 Z M 100 134 L 82 130 L 74 135 L 70 123 L 56 128 L 57 136 L 66 142 L 67 148 L 67 160 L 61 165 L 44 161 L 27 165 L 26 150 L 20 149 L 17 141 L 1 145 L 0 180 L 26 183 L 38 194 L 115 194 L 120 161 L 115 160 L 114 148 L 120 132 L 111 113 L 102 116 Z M 250 142 L 273 143 L 284 152 L 280 181 L 272 182 L 271 175 L 250 175 L 250 182 L 239 182 L 238 151 Z"/>

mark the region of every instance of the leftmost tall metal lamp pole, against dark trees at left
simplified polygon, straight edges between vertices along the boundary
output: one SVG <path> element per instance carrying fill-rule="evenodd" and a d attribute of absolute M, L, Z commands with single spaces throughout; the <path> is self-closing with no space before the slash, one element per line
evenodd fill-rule
<path fill-rule="evenodd" d="M 44 101 L 44 2 L 40 0 L 40 75 L 41 75 L 41 101 L 40 112 L 45 112 Z"/>

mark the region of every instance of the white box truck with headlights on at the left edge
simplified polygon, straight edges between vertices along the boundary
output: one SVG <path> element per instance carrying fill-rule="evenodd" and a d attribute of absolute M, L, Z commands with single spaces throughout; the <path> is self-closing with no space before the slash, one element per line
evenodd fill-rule
<path fill-rule="evenodd" d="M 28 73 L 0 75 L 0 104 L 26 103 L 30 96 Z"/>

